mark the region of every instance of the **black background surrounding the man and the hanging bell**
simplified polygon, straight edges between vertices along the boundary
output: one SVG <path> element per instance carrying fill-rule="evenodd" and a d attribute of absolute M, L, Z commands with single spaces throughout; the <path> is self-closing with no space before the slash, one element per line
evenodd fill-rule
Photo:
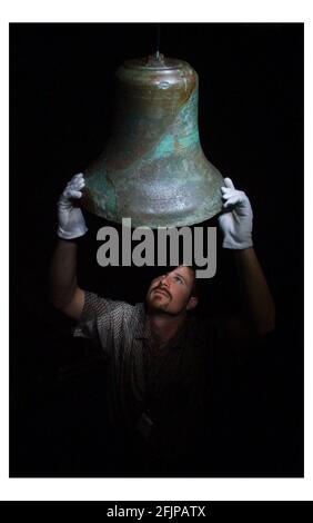
<path fill-rule="evenodd" d="M 10 474 L 114 475 L 103 460 L 103 365 L 72 339 L 48 299 L 55 201 L 103 148 L 114 71 L 155 50 L 156 24 L 10 27 Z M 206 157 L 245 190 L 254 245 L 277 308 L 277 328 L 236 376 L 220 470 L 202 475 L 303 474 L 303 24 L 161 24 L 161 52 L 200 78 Z M 143 299 L 145 269 L 101 269 L 85 213 L 83 288 Z M 215 225 L 210 220 L 208 225 Z M 218 253 L 204 310 L 236 306 L 230 253 Z M 104 463 L 103 463 L 104 461 Z M 205 461 L 204 461 L 205 463 Z M 115 472 L 117 474 L 117 472 Z M 185 475 L 189 475 L 186 471 Z"/>

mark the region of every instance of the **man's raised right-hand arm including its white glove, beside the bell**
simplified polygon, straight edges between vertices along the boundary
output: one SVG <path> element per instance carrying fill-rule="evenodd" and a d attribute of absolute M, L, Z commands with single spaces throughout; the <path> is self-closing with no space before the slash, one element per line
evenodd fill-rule
<path fill-rule="evenodd" d="M 224 214 L 219 217 L 223 247 L 233 251 L 242 294 L 243 314 L 230 320 L 234 336 L 264 335 L 275 326 L 275 306 L 252 243 L 252 209 L 248 196 L 224 180 Z"/>

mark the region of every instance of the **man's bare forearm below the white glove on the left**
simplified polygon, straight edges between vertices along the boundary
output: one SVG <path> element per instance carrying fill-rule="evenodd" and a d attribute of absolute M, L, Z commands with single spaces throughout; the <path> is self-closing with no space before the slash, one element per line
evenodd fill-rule
<path fill-rule="evenodd" d="M 77 289 L 77 250 L 74 241 L 57 244 L 50 266 L 51 300 L 57 308 L 67 306 Z"/>

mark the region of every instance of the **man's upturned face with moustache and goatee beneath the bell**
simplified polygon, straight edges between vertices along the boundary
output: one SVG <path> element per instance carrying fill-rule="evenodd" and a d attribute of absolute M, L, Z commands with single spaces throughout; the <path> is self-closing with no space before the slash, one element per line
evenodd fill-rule
<path fill-rule="evenodd" d="M 154 278 L 145 296 L 148 307 L 173 316 L 191 310 L 198 304 L 191 296 L 193 280 L 193 270 L 183 265 Z"/>

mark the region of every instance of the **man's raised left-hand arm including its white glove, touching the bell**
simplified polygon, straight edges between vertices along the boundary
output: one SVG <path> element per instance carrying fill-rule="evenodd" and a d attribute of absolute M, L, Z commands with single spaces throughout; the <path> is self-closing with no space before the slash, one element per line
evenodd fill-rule
<path fill-rule="evenodd" d="M 79 319 L 84 304 L 84 292 L 77 282 L 75 238 L 88 228 L 82 211 L 74 203 L 81 198 L 83 175 L 75 175 L 67 185 L 58 201 L 58 241 L 50 266 L 51 302 L 73 319 Z"/>

